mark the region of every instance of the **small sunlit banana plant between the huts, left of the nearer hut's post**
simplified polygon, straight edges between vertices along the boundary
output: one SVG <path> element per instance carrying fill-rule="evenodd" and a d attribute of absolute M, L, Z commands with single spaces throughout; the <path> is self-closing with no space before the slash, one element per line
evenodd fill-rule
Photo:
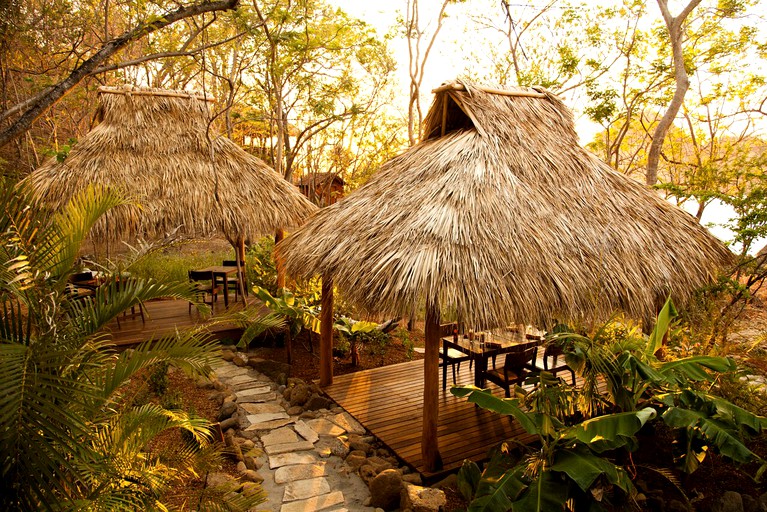
<path fill-rule="evenodd" d="M 319 311 L 316 305 L 319 302 L 318 294 L 301 297 L 287 288 L 280 288 L 277 295 L 272 295 L 266 288 L 261 287 L 255 287 L 254 291 L 266 307 L 285 318 L 288 327 L 285 331 L 285 356 L 288 364 L 292 364 L 293 339 L 304 329 L 313 333 L 320 332 Z"/>

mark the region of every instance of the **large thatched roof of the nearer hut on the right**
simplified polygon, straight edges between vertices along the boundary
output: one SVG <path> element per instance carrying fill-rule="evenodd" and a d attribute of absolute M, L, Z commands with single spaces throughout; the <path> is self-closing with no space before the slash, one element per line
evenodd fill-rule
<path fill-rule="evenodd" d="M 438 301 L 469 325 L 654 313 L 730 253 L 692 216 L 578 145 L 556 96 L 458 84 L 425 140 L 278 247 L 289 272 L 329 274 L 374 311 Z"/>

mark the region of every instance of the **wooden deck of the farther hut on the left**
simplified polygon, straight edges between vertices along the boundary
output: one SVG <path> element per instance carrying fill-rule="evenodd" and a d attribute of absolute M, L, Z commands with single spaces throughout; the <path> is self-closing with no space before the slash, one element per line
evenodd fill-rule
<path fill-rule="evenodd" d="M 231 298 L 231 297 L 230 297 Z M 248 297 L 249 305 L 257 302 L 253 297 Z M 203 318 L 193 307 L 189 312 L 189 303 L 185 300 L 156 300 L 144 303 L 145 322 L 141 316 L 123 318 L 120 323 L 112 321 L 105 329 L 112 333 L 112 340 L 118 346 L 136 345 L 151 339 L 158 339 L 173 334 L 177 329 L 188 329 L 210 323 Z M 224 308 L 223 300 L 219 298 L 213 306 L 213 317 L 225 312 L 242 309 L 241 303 L 232 300 L 229 308 Z M 209 332 L 216 339 L 231 338 L 238 340 L 242 335 L 242 329 L 233 324 L 216 324 L 209 328 Z"/>

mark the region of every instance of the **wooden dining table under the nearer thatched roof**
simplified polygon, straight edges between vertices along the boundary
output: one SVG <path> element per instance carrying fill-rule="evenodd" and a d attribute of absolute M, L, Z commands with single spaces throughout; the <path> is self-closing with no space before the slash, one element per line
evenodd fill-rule
<path fill-rule="evenodd" d="M 445 353 L 448 349 L 458 350 L 472 359 L 474 362 L 474 385 L 478 388 L 484 388 L 487 382 L 485 374 L 487 373 L 488 361 L 495 361 L 496 357 L 511 352 L 514 347 L 543 342 L 543 335 L 538 333 L 529 333 L 521 331 L 496 331 L 492 333 L 491 339 L 488 337 L 485 341 L 480 341 L 480 334 L 475 333 L 475 339 L 470 340 L 468 335 L 445 336 L 442 338 L 442 348 Z"/>

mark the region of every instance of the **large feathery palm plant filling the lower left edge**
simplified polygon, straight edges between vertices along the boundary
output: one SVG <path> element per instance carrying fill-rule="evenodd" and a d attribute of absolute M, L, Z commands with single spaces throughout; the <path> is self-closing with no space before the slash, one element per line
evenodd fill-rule
<path fill-rule="evenodd" d="M 163 509 L 163 488 L 193 473 L 196 451 L 210 444 L 206 420 L 152 403 L 134 406 L 123 390 L 163 362 L 208 373 L 214 342 L 179 333 L 117 353 L 102 329 L 149 299 L 194 301 L 190 286 L 107 276 L 90 296 L 70 293 L 90 228 L 124 203 L 114 191 L 91 188 L 51 215 L 24 188 L 0 184 L 3 510 Z M 176 453 L 172 465 L 146 450 L 169 429 L 188 432 L 196 446 Z"/>

